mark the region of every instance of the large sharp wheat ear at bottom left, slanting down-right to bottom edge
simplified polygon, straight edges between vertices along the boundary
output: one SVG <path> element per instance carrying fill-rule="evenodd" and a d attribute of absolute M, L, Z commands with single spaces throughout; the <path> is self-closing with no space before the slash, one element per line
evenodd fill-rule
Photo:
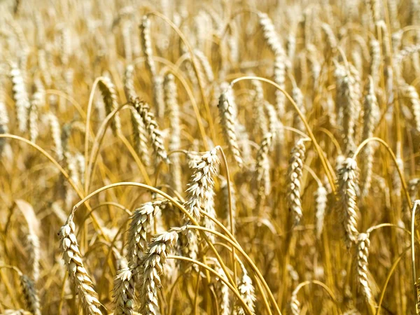
<path fill-rule="evenodd" d="M 59 230 L 60 249 L 62 251 L 64 264 L 69 272 L 69 279 L 78 293 L 85 314 L 102 315 L 99 310 L 100 303 L 97 293 L 93 288 L 92 280 L 83 266 L 82 256 L 78 248 L 76 226 L 73 218 L 68 218 L 66 224 Z"/>

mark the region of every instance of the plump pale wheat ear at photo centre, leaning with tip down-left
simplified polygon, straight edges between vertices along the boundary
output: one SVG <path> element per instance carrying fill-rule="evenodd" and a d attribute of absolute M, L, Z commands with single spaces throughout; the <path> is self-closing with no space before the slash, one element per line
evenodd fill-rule
<path fill-rule="evenodd" d="M 212 148 L 201 155 L 200 159 L 193 161 L 194 173 L 188 183 L 184 207 L 197 221 L 200 221 L 200 209 L 204 207 L 214 188 L 213 178 L 217 172 L 216 165 L 219 163 L 218 148 L 218 146 Z"/>

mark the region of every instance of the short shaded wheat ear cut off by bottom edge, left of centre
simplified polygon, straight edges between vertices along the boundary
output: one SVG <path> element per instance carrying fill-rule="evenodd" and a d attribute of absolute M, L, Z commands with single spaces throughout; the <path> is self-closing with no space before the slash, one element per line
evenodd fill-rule
<path fill-rule="evenodd" d="M 118 270 L 114 279 L 114 315 L 132 315 L 134 309 L 134 275 L 129 267 Z"/>

